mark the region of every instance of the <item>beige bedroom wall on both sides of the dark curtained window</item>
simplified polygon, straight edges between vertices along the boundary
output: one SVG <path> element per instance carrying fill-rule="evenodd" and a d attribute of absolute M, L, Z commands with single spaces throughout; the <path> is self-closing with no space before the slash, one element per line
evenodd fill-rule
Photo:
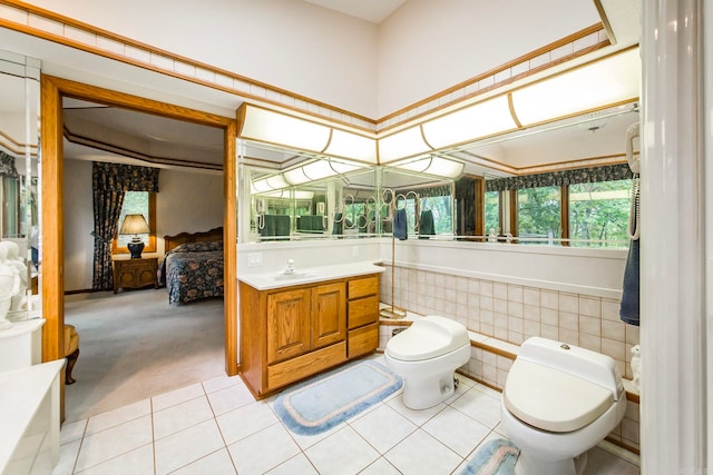
<path fill-rule="evenodd" d="M 223 226 L 223 176 L 162 169 L 156 195 L 157 253 L 164 236 Z M 91 288 L 94 237 L 91 161 L 65 160 L 65 290 Z"/>

